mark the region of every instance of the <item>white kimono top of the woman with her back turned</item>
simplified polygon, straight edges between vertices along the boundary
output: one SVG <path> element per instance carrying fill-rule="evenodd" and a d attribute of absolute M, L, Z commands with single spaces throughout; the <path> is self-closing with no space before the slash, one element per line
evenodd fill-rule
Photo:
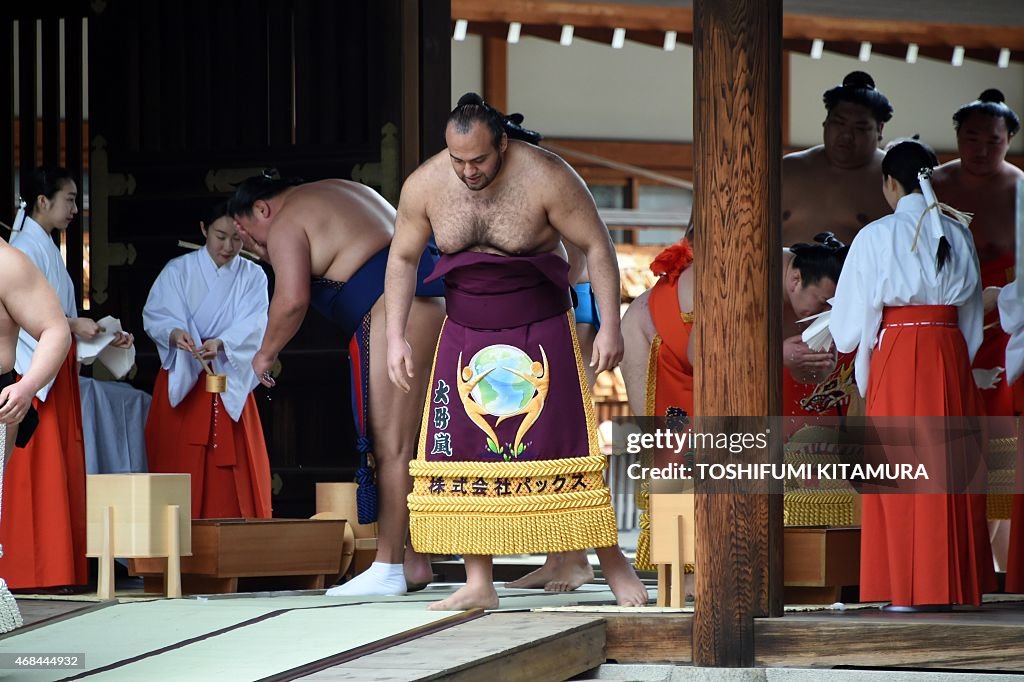
<path fill-rule="evenodd" d="M 942 216 L 950 255 L 937 271 L 938 244 L 929 233 L 927 217 L 916 248 L 910 250 L 926 207 L 923 195 L 907 195 L 896 204 L 895 213 L 857 232 L 830 301 L 828 328 L 841 352 L 857 349 L 854 374 L 862 396 L 867 394 L 871 351 L 881 341 L 879 329 L 886 306 L 955 305 L 972 360 L 981 346 L 984 312 L 974 238 L 968 227 Z"/>

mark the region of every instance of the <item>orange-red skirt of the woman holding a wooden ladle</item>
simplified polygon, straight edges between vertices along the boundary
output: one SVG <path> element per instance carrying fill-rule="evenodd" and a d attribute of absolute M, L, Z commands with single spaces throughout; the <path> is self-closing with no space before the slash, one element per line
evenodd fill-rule
<path fill-rule="evenodd" d="M 193 518 L 269 518 L 270 460 L 252 393 L 234 422 L 203 377 L 172 408 L 167 371 L 153 388 L 145 422 L 150 471 L 191 476 Z"/>

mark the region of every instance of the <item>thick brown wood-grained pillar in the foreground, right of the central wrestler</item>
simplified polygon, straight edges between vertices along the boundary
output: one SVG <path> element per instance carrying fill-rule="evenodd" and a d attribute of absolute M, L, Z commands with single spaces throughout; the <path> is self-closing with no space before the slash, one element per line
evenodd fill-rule
<path fill-rule="evenodd" d="M 781 0 L 694 2 L 694 412 L 708 416 L 705 431 L 779 414 L 781 28 Z M 698 463 L 721 457 L 697 452 Z M 712 485 L 695 501 L 693 664 L 753 666 L 753 619 L 781 612 L 781 496 L 751 494 L 749 480 Z"/>

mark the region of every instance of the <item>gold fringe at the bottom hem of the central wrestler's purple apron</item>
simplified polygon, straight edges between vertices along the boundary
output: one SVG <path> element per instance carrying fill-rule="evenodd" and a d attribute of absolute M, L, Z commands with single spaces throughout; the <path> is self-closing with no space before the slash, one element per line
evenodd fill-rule
<path fill-rule="evenodd" d="M 413 546 L 433 554 L 569 552 L 618 543 L 610 505 L 509 515 L 414 514 Z"/>

